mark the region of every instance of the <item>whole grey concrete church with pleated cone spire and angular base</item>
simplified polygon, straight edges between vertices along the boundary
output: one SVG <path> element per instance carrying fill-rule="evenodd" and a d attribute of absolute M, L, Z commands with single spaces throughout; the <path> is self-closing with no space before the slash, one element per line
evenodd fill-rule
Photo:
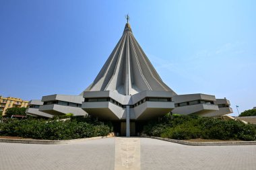
<path fill-rule="evenodd" d="M 133 36 L 123 35 L 91 85 L 80 95 L 46 95 L 29 103 L 27 114 L 52 117 L 73 113 L 113 122 L 121 136 L 135 136 L 143 122 L 169 112 L 218 117 L 232 113 L 228 99 L 214 95 L 178 95 L 166 85 Z"/>

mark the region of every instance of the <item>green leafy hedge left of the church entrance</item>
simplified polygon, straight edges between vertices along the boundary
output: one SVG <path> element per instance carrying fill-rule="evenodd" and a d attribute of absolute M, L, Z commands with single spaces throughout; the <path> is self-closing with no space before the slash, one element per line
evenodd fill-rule
<path fill-rule="evenodd" d="M 0 136 L 20 136 L 46 140 L 68 140 L 106 136 L 110 127 L 102 122 L 77 122 L 76 120 L 4 120 L 0 124 Z"/>

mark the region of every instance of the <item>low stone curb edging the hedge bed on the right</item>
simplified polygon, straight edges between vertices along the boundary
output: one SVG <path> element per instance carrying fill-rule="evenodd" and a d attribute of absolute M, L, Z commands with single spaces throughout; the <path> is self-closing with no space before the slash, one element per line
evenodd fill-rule
<path fill-rule="evenodd" d="M 177 140 L 172 138 L 160 138 L 156 136 L 143 136 L 146 138 L 154 138 L 178 144 L 185 144 L 190 146 L 235 146 L 235 145 L 256 145 L 256 141 L 238 141 L 238 142 L 189 142 L 185 140 Z"/>

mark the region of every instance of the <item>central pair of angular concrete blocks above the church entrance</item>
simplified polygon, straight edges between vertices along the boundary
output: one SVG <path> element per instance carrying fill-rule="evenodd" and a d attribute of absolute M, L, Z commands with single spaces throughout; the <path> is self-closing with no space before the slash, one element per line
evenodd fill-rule
<path fill-rule="evenodd" d="M 85 91 L 82 109 L 104 120 L 125 120 L 127 106 L 131 120 L 148 120 L 167 114 L 174 108 L 172 91 L 142 91 L 121 95 L 112 91 Z M 166 101 L 153 101 L 164 99 Z M 152 114 L 148 114 L 152 112 Z M 104 113 L 104 114 L 102 114 Z"/>

